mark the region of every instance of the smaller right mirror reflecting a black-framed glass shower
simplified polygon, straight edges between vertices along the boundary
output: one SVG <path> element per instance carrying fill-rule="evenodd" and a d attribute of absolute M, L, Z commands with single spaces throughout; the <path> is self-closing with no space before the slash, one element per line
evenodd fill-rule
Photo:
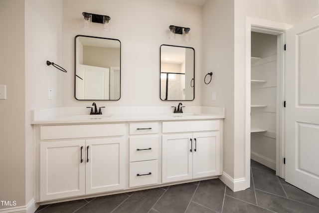
<path fill-rule="evenodd" d="M 160 46 L 161 100 L 194 100 L 194 60 L 194 48 Z"/>

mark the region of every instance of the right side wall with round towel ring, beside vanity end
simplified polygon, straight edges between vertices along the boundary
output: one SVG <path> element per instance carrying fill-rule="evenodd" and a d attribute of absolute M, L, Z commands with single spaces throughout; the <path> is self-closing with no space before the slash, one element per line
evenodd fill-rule
<path fill-rule="evenodd" d="M 234 2 L 208 0 L 203 6 L 202 105 L 226 108 L 224 171 L 234 176 Z M 207 73 L 213 72 L 209 84 Z M 209 78 L 206 79 L 207 81 Z M 216 101 L 212 100 L 216 92 Z"/>

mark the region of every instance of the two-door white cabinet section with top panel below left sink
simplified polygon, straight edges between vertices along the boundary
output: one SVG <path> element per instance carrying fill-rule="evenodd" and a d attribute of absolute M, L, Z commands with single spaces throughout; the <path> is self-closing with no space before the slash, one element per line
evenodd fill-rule
<path fill-rule="evenodd" d="M 124 124 L 40 127 L 40 201 L 124 189 L 124 135 Z"/>

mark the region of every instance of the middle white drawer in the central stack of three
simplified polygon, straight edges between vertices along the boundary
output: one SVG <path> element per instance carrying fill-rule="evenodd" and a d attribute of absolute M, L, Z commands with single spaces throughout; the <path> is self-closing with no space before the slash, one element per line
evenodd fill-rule
<path fill-rule="evenodd" d="M 131 137 L 130 162 L 158 159 L 159 137 Z"/>

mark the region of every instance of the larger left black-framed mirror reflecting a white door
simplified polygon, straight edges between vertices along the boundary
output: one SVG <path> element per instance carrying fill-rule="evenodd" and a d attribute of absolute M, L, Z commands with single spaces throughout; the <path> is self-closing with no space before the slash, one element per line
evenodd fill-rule
<path fill-rule="evenodd" d="M 75 36 L 74 93 L 77 100 L 120 99 L 120 40 Z"/>

